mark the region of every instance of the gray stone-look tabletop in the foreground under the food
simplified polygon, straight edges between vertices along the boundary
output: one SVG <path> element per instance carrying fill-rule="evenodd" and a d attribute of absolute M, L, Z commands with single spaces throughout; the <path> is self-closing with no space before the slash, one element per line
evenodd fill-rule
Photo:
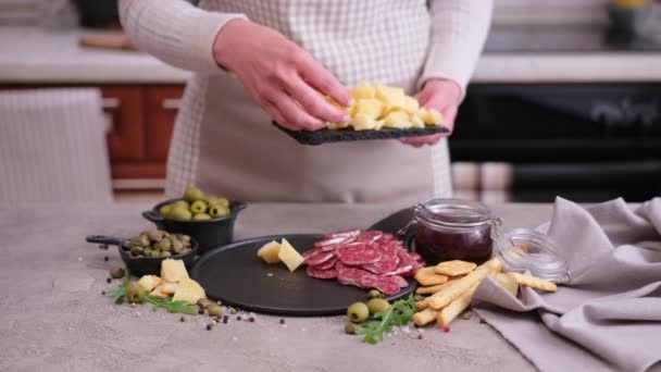
<path fill-rule="evenodd" d="M 116 306 L 101 290 L 113 248 L 84 243 L 91 234 L 127 236 L 151 227 L 149 206 L 74 204 L 0 208 L 0 370 L 2 371 L 533 371 L 534 367 L 477 317 L 451 332 L 411 328 L 377 346 L 344 334 L 344 317 L 230 321 L 205 331 L 207 315 L 147 306 Z M 496 206 L 503 231 L 551 216 L 550 204 Z M 365 228 L 394 206 L 252 204 L 237 238 Z M 110 261 L 103 260 L 104 256 Z M 117 283 L 112 284 L 115 286 Z M 422 334 L 423 339 L 417 339 Z"/>

